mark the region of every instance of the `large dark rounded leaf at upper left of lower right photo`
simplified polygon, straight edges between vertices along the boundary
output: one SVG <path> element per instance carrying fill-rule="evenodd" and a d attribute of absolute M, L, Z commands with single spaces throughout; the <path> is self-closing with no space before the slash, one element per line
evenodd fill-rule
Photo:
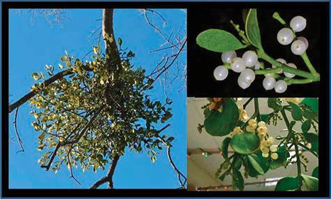
<path fill-rule="evenodd" d="M 239 110 L 233 98 L 223 98 L 223 111 L 214 110 L 204 121 L 205 130 L 210 135 L 228 135 L 239 119 Z"/>

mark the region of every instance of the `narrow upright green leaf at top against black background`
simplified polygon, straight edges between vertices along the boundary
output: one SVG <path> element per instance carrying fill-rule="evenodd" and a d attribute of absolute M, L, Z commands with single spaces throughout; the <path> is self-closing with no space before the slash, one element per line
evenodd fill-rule
<path fill-rule="evenodd" d="M 246 18 L 245 30 L 249 42 L 262 50 L 260 29 L 258 28 L 258 14 L 256 9 L 250 9 Z"/>

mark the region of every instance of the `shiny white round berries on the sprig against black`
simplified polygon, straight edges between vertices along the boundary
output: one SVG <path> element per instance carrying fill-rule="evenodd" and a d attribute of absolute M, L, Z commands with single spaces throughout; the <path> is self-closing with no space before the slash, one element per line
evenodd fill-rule
<path fill-rule="evenodd" d="M 290 21 L 290 28 L 283 28 L 277 34 L 277 40 L 281 45 L 291 45 L 291 51 L 293 54 L 303 54 L 308 48 L 308 40 L 302 36 L 295 38 L 295 32 L 303 31 L 306 27 L 306 19 L 301 16 L 293 17 Z M 296 39 L 295 41 L 293 41 Z M 258 55 L 252 50 L 244 52 L 242 57 L 237 57 L 235 51 L 223 52 L 221 59 L 224 64 L 230 64 L 230 68 L 235 73 L 240 73 L 237 79 L 237 84 L 242 89 L 247 89 L 251 83 L 255 80 L 255 73 L 253 70 L 260 69 L 260 62 L 258 61 Z M 287 63 L 285 59 L 276 59 L 281 64 L 286 64 L 290 68 L 297 68 L 293 63 Z M 277 66 L 272 65 L 272 68 L 277 68 Z M 288 73 L 284 71 L 277 72 L 278 74 L 284 73 L 286 78 L 294 78 L 295 74 Z M 217 66 L 214 69 L 214 78 L 216 80 L 222 81 L 228 77 L 228 68 L 226 66 Z M 277 93 L 284 93 L 287 89 L 287 84 L 284 80 L 276 80 L 272 73 L 266 74 L 263 80 L 263 87 L 265 90 L 274 89 Z"/>

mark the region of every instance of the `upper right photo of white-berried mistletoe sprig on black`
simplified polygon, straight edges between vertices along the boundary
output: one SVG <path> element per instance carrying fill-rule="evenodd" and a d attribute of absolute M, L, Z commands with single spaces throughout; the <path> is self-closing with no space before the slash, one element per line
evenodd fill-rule
<path fill-rule="evenodd" d="M 189 9 L 188 96 L 320 94 L 328 72 L 323 4 L 227 5 Z"/>

